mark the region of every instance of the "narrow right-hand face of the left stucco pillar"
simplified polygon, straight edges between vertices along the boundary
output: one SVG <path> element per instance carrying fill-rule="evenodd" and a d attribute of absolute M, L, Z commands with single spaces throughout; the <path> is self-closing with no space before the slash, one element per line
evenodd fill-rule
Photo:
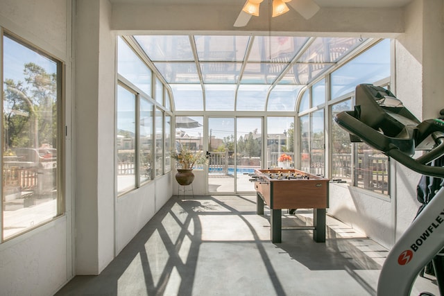
<path fill-rule="evenodd" d="M 91 1 L 86 1 L 87 6 Z M 116 85 L 116 37 L 111 32 L 112 7 L 108 0 L 100 0 L 99 9 L 99 72 L 97 112 L 97 196 L 99 208 L 99 270 L 103 270 L 114 259 L 114 162 L 115 157 L 115 87 Z M 83 32 L 85 34 L 85 32 Z"/>

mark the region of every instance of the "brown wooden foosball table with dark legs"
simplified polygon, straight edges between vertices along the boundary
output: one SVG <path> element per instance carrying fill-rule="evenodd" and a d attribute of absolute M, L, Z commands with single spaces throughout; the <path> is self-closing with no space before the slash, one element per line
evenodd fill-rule
<path fill-rule="evenodd" d="M 325 212 L 328 207 L 329 180 L 296 169 L 255 170 L 257 214 L 264 214 L 264 203 L 270 207 L 271 241 L 282 241 L 282 209 L 313 209 L 313 226 L 291 229 L 313 229 L 313 239 L 325 242 Z"/>

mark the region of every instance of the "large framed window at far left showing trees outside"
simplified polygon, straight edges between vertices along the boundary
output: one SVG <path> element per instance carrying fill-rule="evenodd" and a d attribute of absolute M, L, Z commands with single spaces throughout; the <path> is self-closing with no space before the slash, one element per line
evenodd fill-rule
<path fill-rule="evenodd" d="M 31 44 L 2 36 L 1 241 L 63 211 L 62 63 Z"/>

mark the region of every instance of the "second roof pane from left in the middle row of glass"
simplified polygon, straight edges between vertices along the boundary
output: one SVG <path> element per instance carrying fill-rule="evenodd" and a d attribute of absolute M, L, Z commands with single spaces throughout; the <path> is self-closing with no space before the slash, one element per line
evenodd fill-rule
<path fill-rule="evenodd" d="M 240 62 L 200 62 L 204 83 L 237 83 Z"/>

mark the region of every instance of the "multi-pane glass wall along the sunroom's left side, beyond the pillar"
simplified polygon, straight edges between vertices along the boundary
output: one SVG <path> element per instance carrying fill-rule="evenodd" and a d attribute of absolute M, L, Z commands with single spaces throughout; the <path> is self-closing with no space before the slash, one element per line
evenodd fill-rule
<path fill-rule="evenodd" d="M 117 195 L 171 171 L 171 96 L 162 79 L 118 37 Z"/>

